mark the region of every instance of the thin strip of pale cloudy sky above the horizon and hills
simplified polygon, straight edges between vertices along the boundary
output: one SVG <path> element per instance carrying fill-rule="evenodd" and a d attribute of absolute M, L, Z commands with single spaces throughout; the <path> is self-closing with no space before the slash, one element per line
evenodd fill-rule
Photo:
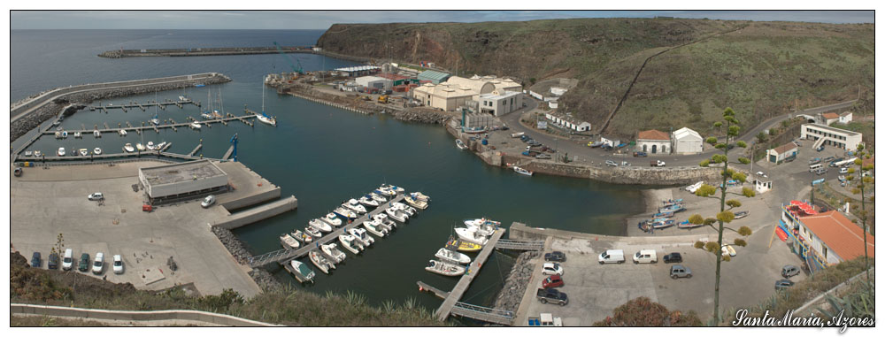
<path fill-rule="evenodd" d="M 10 11 L 11 29 L 327 29 L 334 23 L 571 18 L 874 23 L 874 11 Z"/>

